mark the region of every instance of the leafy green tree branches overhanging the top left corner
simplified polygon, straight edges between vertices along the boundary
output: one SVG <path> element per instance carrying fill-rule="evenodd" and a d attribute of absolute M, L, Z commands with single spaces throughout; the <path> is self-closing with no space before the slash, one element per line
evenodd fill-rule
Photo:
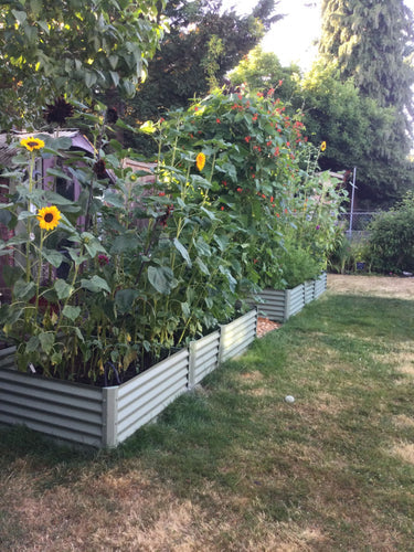
<path fill-rule="evenodd" d="M 131 96 L 162 35 L 158 0 L 11 0 L 0 7 L 0 128 L 66 95 Z"/>

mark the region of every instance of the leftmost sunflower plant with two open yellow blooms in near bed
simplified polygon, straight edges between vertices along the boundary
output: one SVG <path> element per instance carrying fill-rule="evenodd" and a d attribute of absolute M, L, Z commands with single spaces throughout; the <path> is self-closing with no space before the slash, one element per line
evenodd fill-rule
<path fill-rule="evenodd" d="M 19 367 L 52 375 L 66 371 L 65 359 L 74 357 L 74 343 L 83 340 L 82 308 L 76 301 L 79 289 L 89 280 L 82 284 L 82 266 L 105 250 L 71 221 L 81 206 L 36 180 L 38 156 L 51 148 L 54 151 L 53 140 L 49 139 L 47 148 L 45 140 L 23 138 L 14 159 L 17 169 L 7 174 L 13 189 L 10 202 L 1 206 L 11 237 L 0 243 L 0 253 L 10 256 L 3 278 L 11 289 L 11 300 L 1 306 L 0 323 L 3 340 L 17 346 Z M 59 243 L 66 245 L 62 248 Z M 56 270 L 67 257 L 73 268 L 66 279 L 60 278 Z"/>

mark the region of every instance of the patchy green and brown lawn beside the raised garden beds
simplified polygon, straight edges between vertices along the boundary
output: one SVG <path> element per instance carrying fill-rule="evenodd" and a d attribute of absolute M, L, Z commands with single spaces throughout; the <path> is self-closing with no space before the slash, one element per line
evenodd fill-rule
<path fill-rule="evenodd" d="M 327 293 L 113 452 L 2 429 L 0 550 L 414 550 L 413 317 Z"/>

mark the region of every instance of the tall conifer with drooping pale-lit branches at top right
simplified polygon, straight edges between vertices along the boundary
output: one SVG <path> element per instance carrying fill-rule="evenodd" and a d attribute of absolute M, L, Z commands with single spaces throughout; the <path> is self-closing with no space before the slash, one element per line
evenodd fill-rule
<path fill-rule="evenodd" d="M 380 106 L 413 114 L 413 14 L 402 0 L 323 0 L 319 52 Z"/>

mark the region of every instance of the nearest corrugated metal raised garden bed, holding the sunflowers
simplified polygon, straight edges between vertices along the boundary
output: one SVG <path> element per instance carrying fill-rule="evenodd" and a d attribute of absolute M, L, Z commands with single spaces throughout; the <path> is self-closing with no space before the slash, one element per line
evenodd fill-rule
<path fill-rule="evenodd" d="M 256 336 L 257 309 L 193 341 L 120 385 L 94 388 L 19 372 L 12 348 L 0 351 L 0 424 L 23 424 L 46 435 L 115 447 L 168 404 L 244 352 Z"/>

